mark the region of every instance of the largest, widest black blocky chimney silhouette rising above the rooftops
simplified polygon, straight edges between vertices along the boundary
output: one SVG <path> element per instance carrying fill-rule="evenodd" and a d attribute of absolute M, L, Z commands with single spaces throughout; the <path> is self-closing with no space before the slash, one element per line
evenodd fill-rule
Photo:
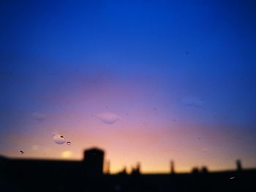
<path fill-rule="evenodd" d="M 86 164 L 86 173 L 89 175 L 103 174 L 104 150 L 96 147 L 84 151 L 83 162 Z"/>

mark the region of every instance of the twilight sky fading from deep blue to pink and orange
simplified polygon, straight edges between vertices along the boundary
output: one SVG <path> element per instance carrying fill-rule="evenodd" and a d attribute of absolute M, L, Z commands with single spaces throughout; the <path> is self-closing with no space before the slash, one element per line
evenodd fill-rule
<path fill-rule="evenodd" d="M 255 20 L 250 0 L 1 1 L 0 154 L 256 167 Z"/>

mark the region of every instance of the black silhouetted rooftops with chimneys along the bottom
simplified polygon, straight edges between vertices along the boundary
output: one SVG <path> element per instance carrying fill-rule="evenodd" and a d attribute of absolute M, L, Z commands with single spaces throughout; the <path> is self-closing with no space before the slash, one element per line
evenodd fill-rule
<path fill-rule="evenodd" d="M 127 174 L 126 168 L 110 174 L 108 161 L 104 173 L 104 150 L 84 151 L 83 161 L 56 161 L 6 158 L 0 156 L 1 191 L 249 191 L 256 190 L 256 169 L 209 172 L 207 166 L 191 173 L 141 174 L 140 163 Z"/>

